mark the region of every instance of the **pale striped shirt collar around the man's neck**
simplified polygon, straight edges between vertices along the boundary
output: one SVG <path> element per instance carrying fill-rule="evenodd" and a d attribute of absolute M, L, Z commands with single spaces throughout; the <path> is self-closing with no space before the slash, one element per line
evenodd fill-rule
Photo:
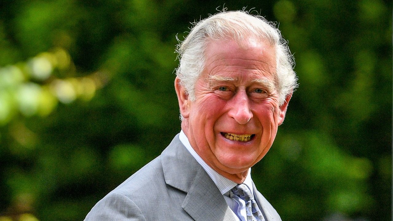
<path fill-rule="evenodd" d="M 226 192 L 231 190 L 233 187 L 237 185 L 237 183 L 233 182 L 232 180 L 227 179 L 226 177 L 223 177 L 217 171 L 212 169 L 200 156 L 195 152 L 193 147 L 191 147 L 191 144 L 185 136 L 185 133 L 183 130 L 180 131 L 179 134 L 179 139 L 182 142 L 182 144 L 185 146 L 185 148 L 191 153 L 191 155 L 195 158 L 195 160 L 202 166 L 202 168 L 208 173 L 209 177 L 213 180 L 213 182 L 216 184 L 217 188 L 219 188 L 220 192 L 222 195 L 224 195 Z M 252 188 L 252 179 L 251 179 L 251 168 L 248 169 L 247 177 L 243 182 L 250 188 L 251 193 L 253 194 L 253 188 Z"/>

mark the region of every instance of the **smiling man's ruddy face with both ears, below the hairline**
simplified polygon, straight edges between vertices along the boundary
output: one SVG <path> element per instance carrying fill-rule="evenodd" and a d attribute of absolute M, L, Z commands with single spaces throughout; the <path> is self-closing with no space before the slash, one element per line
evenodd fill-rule
<path fill-rule="evenodd" d="M 279 106 L 275 50 L 264 41 L 209 42 L 195 100 L 176 86 L 183 130 L 196 153 L 213 169 L 244 173 L 270 149 L 287 103 Z M 178 80 L 176 80 L 178 82 Z M 181 99 L 183 97 L 183 101 Z"/>

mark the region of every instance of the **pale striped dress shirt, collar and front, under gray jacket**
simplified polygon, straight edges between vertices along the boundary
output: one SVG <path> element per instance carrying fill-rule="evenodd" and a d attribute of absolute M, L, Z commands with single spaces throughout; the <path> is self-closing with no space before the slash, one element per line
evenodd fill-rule
<path fill-rule="evenodd" d="M 219 173 L 217 173 L 214 169 L 212 169 L 200 156 L 195 152 L 195 150 L 191 147 L 191 144 L 185 136 L 183 130 L 180 131 L 179 134 L 179 139 L 182 142 L 182 144 L 187 148 L 187 150 L 191 153 L 191 155 L 195 158 L 195 160 L 202 166 L 202 168 L 208 173 L 209 177 L 213 180 L 213 182 L 216 184 L 217 188 L 219 188 L 222 196 L 224 197 L 226 203 L 228 204 L 229 208 L 231 208 L 233 215 L 239 219 L 239 221 L 247 221 L 247 215 L 246 215 L 246 202 L 236 195 L 231 198 L 227 197 L 224 195 L 226 192 L 230 191 L 233 187 L 237 185 L 237 183 L 233 182 L 232 180 L 229 180 Z M 253 188 L 252 188 L 252 179 L 251 179 L 251 168 L 248 169 L 248 174 L 246 177 L 246 180 L 244 180 L 243 184 L 246 184 L 248 188 L 250 188 L 251 193 L 253 193 Z"/>

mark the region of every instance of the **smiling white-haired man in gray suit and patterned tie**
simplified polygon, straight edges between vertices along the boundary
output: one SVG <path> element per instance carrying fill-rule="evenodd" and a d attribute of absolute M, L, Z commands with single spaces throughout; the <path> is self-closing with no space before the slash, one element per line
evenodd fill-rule
<path fill-rule="evenodd" d="M 222 12 L 178 46 L 182 131 L 86 221 L 281 220 L 252 182 L 296 87 L 291 54 L 259 16 Z"/>

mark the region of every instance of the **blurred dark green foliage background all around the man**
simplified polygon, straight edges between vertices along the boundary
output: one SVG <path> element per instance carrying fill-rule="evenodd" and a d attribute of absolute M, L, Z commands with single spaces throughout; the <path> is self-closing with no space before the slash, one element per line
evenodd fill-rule
<path fill-rule="evenodd" d="M 0 220 L 83 220 L 180 131 L 176 33 L 255 7 L 299 88 L 257 188 L 285 221 L 391 217 L 392 2 L 3 0 Z"/>

